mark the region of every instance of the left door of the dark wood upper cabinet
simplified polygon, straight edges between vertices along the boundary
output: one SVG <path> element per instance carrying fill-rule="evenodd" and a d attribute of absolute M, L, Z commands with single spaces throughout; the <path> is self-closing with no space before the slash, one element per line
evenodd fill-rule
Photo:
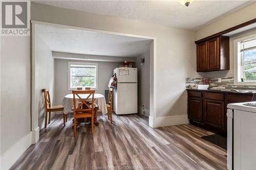
<path fill-rule="evenodd" d="M 207 70 L 206 42 L 197 44 L 197 71 Z"/>

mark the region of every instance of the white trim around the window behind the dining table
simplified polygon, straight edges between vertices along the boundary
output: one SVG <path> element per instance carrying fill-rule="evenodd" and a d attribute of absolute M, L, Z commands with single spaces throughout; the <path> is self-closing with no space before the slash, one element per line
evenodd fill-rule
<path fill-rule="evenodd" d="M 71 88 L 70 87 L 70 65 L 76 64 L 76 65 L 94 65 L 96 66 L 96 88 L 91 88 L 92 90 L 98 90 L 99 85 L 98 85 L 98 80 L 99 80 L 99 68 L 98 68 L 98 63 L 89 63 L 89 62 L 68 62 L 68 90 L 76 90 L 76 88 Z"/>

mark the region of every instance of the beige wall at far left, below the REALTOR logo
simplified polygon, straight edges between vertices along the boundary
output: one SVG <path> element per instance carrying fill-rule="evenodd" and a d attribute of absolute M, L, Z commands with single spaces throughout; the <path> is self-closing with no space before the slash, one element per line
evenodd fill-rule
<path fill-rule="evenodd" d="M 30 37 L 1 36 L 1 156 L 30 125 Z"/>

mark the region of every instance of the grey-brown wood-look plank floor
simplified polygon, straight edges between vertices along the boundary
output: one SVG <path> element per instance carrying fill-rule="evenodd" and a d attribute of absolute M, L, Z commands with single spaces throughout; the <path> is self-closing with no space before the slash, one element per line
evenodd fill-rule
<path fill-rule="evenodd" d="M 193 125 L 153 129 L 148 118 L 99 114 L 99 126 L 81 125 L 73 137 L 73 115 L 66 127 L 53 117 L 40 139 L 11 169 L 226 169 L 227 152 L 204 140 L 213 134 Z M 131 166 L 131 167 L 129 167 Z M 114 168 L 113 168 L 114 167 Z"/>

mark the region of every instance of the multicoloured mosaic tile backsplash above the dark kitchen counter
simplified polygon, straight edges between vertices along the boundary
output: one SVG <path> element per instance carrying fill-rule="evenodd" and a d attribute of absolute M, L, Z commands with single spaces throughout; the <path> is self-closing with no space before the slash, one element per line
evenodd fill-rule
<path fill-rule="evenodd" d="M 189 84 L 203 84 L 203 78 L 186 78 L 186 88 L 189 88 Z M 218 82 L 218 78 L 208 78 L 210 89 L 256 89 L 256 86 L 237 86 L 234 85 L 234 78 L 227 77 L 221 78 L 221 83 Z"/>

